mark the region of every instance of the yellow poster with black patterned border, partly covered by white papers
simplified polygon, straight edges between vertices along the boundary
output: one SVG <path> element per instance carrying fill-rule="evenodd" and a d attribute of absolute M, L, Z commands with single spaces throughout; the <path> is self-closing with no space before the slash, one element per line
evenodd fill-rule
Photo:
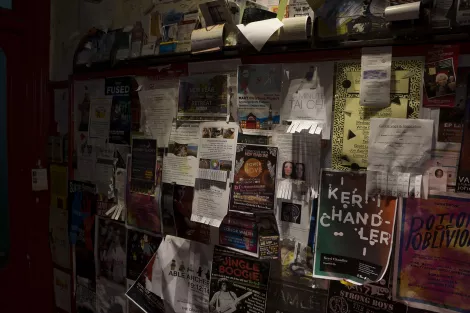
<path fill-rule="evenodd" d="M 359 104 L 360 62 L 336 63 L 336 89 L 331 165 L 334 169 L 366 169 L 370 118 L 418 118 L 423 60 L 393 58 L 390 106 Z"/>

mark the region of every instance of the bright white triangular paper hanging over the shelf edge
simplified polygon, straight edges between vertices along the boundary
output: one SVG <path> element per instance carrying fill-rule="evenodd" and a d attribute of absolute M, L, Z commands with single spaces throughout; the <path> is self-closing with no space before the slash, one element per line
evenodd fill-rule
<path fill-rule="evenodd" d="M 247 25 L 239 24 L 237 27 L 253 47 L 260 51 L 269 37 L 283 25 L 284 24 L 277 18 L 271 18 L 269 20 L 252 22 Z"/>

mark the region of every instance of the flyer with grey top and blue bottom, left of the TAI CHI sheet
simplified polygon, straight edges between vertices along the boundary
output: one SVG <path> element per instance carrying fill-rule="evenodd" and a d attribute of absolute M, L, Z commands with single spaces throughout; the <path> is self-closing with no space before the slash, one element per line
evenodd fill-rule
<path fill-rule="evenodd" d="M 238 120 L 242 128 L 271 129 L 279 124 L 281 64 L 238 67 Z"/>

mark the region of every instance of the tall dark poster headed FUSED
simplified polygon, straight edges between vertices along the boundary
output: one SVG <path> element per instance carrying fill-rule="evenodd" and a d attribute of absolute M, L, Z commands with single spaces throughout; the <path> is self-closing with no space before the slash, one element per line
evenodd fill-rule
<path fill-rule="evenodd" d="M 106 78 L 105 95 L 112 96 L 109 142 L 130 145 L 132 77 Z"/>

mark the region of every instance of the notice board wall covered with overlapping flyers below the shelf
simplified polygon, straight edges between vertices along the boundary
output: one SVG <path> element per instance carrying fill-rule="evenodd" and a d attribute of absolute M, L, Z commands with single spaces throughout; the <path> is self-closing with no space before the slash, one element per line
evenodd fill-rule
<path fill-rule="evenodd" d="M 72 76 L 49 140 L 56 306 L 470 311 L 465 49 Z"/>

